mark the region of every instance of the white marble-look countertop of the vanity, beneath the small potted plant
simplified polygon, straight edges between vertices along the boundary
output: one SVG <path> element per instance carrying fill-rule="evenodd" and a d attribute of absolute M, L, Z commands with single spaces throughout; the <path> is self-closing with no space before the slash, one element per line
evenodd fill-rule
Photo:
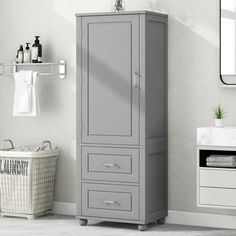
<path fill-rule="evenodd" d="M 236 147 L 236 126 L 197 128 L 197 144 Z"/>

